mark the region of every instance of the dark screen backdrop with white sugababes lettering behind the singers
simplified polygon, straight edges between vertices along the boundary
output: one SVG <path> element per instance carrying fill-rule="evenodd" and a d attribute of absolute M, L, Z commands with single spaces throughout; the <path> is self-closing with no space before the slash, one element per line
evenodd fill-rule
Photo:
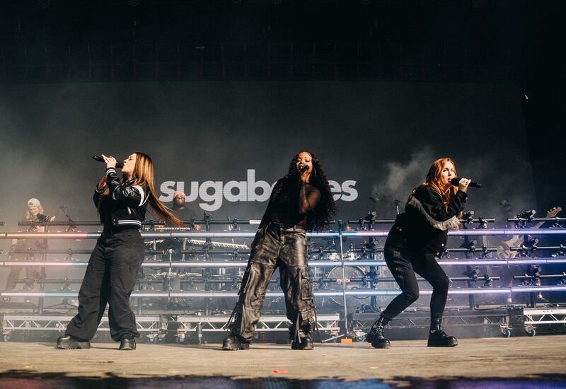
<path fill-rule="evenodd" d="M 0 219 L 11 224 L 30 197 L 59 219 L 60 204 L 75 220 L 95 219 L 91 192 L 104 168 L 91 156 L 125 158 L 137 150 L 154 158 L 158 190 L 162 182 L 185 182 L 190 195 L 191 182 L 198 182 L 201 192 L 190 207 L 215 219 L 259 219 L 265 202 L 213 199 L 214 192 L 231 180 L 246 181 L 248 169 L 256 181 L 272 184 L 301 150 L 316 153 L 328 178 L 348 186 L 337 202 L 341 219 L 374 209 L 393 216 L 393 199 L 405 200 L 442 156 L 455 159 L 460 175 L 483 183 L 470 190 L 468 209 L 476 215 L 497 218 L 503 198 L 517 209 L 536 203 L 524 96 L 516 86 L 74 83 L 4 85 L 0 96 Z M 202 192 L 203 182 L 212 197 Z M 171 190 L 160 191 L 164 200 Z"/>

